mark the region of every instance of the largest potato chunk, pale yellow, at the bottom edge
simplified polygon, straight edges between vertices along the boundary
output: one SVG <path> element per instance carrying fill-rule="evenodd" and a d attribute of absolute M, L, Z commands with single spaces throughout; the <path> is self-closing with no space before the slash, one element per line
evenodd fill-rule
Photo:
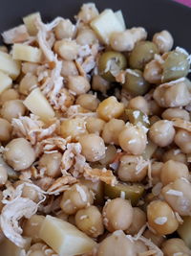
<path fill-rule="evenodd" d="M 60 256 L 74 256 L 91 252 L 96 242 L 73 224 L 47 215 L 39 237 Z"/>

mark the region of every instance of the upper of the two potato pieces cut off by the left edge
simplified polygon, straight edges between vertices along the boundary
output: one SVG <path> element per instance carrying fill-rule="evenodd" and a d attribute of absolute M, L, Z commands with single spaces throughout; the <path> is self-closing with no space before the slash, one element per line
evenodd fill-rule
<path fill-rule="evenodd" d="M 11 79 L 15 80 L 20 74 L 20 61 L 14 60 L 7 53 L 0 52 L 0 71 L 8 74 Z"/>

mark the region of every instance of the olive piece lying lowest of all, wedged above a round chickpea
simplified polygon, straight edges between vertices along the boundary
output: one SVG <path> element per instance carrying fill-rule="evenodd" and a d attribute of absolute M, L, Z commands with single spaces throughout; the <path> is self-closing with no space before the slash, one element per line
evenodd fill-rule
<path fill-rule="evenodd" d="M 111 199 L 120 198 L 122 192 L 124 192 L 125 198 L 130 199 L 132 205 L 136 206 L 139 198 L 141 198 L 144 193 L 144 187 L 140 184 L 130 185 L 124 183 L 117 183 L 116 186 L 111 186 L 104 183 L 105 197 Z"/>

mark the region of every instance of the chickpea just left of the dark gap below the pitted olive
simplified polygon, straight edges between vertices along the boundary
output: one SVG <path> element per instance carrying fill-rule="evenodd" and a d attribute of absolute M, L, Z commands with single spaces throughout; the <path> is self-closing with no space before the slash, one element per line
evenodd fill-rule
<path fill-rule="evenodd" d="M 90 90 L 90 82 L 82 76 L 69 76 L 68 88 L 76 95 L 84 94 Z"/>

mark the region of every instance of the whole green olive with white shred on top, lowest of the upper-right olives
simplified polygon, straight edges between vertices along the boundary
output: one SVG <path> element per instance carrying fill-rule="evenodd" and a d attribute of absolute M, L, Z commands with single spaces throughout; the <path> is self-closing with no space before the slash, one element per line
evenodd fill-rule
<path fill-rule="evenodd" d="M 133 96 L 138 96 L 145 94 L 148 91 L 150 84 L 145 81 L 140 70 L 127 69 L 125 83 L 123 83 L 122 86 Z"/>

